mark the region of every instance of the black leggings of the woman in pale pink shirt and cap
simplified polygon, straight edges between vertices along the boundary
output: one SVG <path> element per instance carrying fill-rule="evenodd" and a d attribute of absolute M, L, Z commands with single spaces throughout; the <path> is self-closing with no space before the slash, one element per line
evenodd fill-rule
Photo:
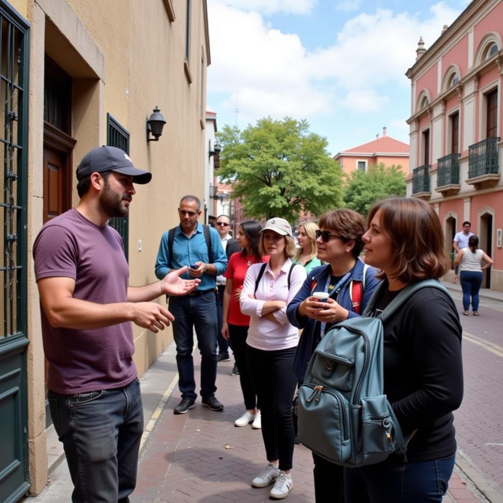
<path fill-rule="evenodd" d="M 262 411 L 262 438 L 268 461 L 280 470 L 292 468 L 295 434 L 292 400 L 297 385 L 293 372 L 296 348 L 263 351 L 246 346 L 246 362 Z"/>

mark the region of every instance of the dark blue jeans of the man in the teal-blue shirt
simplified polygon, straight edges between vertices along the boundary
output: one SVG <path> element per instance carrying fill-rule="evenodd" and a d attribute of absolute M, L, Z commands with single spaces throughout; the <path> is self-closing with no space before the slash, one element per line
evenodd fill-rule
<path fill-rule="evenodd" d="M 217 390 L 217 317 L 215 316 L 215 291 L 208 290 L 199 296 L 170 297 L 169 309 L 173 322 L 173 337 L 177 345 L 178 387 L 182 398 L 195 400 L 194 380 L 194 328 L 197 347 L 201 353 L 201 396 L 208 398 Z"/>

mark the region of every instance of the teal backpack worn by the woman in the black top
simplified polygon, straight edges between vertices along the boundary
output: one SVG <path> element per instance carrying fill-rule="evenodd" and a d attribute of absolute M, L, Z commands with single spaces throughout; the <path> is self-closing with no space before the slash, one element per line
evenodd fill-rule
<path fill-rule="evenodd" d="M 333 325 L 314 350 L 298 393 L 298 438 L 319 456 L 357 467 L 405 453 L 407 442 L 383 394 L 382 323 L 425 287 L 442 290 L 452 301 L 440 281 L 423 280 L 403 288 L 379 317 L 370 317 L 386 288 L 381 283 L 362 316 Z"/>

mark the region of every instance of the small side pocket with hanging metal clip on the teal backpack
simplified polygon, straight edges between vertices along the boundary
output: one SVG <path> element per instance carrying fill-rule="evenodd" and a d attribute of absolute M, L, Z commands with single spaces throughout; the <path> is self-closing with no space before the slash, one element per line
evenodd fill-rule
<path fill-rule="evenodd" d="M 403 445 L 400 426 L 386 395 L 361 398 L 363 454 L 371 455 L 365 464 L 378 463 Z"/>

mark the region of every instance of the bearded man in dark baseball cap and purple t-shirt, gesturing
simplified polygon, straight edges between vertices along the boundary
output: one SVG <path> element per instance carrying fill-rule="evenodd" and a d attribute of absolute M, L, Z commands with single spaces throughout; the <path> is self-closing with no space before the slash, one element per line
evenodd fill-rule
<path fill-rule="evenodd" d="M 152 332 L 164 329 L 174 317 L 150 301 L 185 295 L 199 280 L 181 279 L 185 267 L 156 283 L 129 286 L 122 239 L 107 221 L 128 214 L 133 184 L 146 184 L 152 175 L 123 150 L 91 150 L 76 177 L 77 207 L 47 222 L 33 247 L 47 397 L 73 503 L 127 502 L 143 433 L 131 321 Z"/>

